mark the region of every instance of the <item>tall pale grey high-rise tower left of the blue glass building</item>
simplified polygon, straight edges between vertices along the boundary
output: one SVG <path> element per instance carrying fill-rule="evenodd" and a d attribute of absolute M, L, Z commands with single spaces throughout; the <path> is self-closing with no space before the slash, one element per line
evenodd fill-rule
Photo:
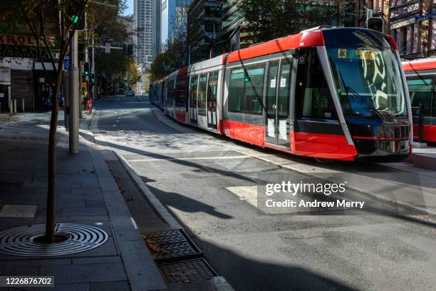
<path fill-rule="evenodd" d="M 135 0 L 135 60 L 145 70 L 160 51 L 160 0 Z"/>

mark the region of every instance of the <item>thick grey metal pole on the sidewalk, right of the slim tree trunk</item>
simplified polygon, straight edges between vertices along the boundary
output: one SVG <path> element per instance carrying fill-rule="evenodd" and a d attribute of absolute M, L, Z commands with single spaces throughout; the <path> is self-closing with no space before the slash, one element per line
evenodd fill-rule
<path fill-rule="evenodd" d="M 71 31 L 71 44 L 70 44 L 70 61 L 71 67 L 68 76 L 68 101 L 70 106 L 70 153 L 79 152 L 79 92 L 78 92 L 78 32 Z"/>

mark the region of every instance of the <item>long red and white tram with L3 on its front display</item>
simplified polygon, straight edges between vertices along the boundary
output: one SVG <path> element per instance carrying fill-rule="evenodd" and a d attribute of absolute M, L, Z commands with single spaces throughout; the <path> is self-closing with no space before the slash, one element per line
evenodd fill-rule
<path fill-rule="evenodd" d="M 406 158 L 412 112 L 391 36 L 310 29 L 181 68 L 150 85 L 177 121 L 314 158 Z"/>

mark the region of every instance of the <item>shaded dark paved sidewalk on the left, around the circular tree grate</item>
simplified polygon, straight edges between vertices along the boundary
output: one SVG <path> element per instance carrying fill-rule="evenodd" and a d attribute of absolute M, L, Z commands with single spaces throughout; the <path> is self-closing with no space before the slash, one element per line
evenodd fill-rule
<path fill-rule="evenodd" d="M 81 128 L 88 128 L 90 116 L 84 117 Z M 49 118 L 50 113 L 21 113 L 8 122 L 1 119 L 1 232 L 46 221 Z M 1 276 L 54 276 L 55 287 L 9 290 L 166 290 L 101 153 L 87 141 L 85 131 L 81 131 L 80 153 L 68 153 L 63 113 L 59 118 L 55 221 L 99 228 L 108 233 L 108 240 L 73 255 L 23 257 L 0 253 Z"/>

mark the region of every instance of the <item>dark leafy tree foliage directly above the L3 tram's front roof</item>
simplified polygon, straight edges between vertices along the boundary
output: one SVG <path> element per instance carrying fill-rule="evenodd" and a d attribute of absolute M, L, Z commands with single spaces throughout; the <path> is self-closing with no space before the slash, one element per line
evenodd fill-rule
<path fill-rule="evenodd" d="M 242 0 L 250 44 L 296 34 L 319 25 L 339 25 L 346 0 Z"/>

